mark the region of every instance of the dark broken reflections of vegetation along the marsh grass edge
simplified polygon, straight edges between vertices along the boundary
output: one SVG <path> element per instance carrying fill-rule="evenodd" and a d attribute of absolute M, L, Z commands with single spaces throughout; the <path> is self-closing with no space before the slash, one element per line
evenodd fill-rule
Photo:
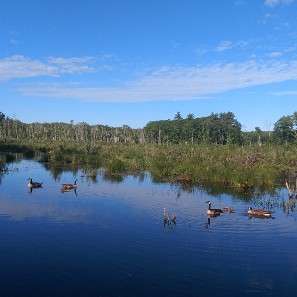
<path fill-rule="evenodd" d="M 32 157 L 32 152 L 28 152 L 28 157 Z M 9 172 L 16 171 L 18 168 L 15 167 L 14 169 L 9 169 L 8 165 L 12 164 L 13 162 L 20 162 L 24 158 L 23 154 L 5 154 L 4 157 L 2 155 L 2 159 L 0 158 L 0 182 L 1 178 L 4 174 L 8 174 Z M 35 155 L 36 158 L 36 155 Z M 42 160 L 42 157 L 38 157 L 40 160 Z M 122 183 L 125 181 L 125 177 L 127 175 L 125 174 L 111 174 L 110 172 L 104 170 L 104 169 L 94 169 L 92 167 L 87 167 L 84 165 L 83 168 L 79 168 L 78 165 L 73 164 L 59 164 L 59 163 L 48 163 L 48 162 L 41 162 L 40 163 L 50 174 L 51 177 L 56 182 L 61 182 L 61 176 L 64 173 L 71 173 L 74 178 L 80 176 L 81 178 L 84 178 L 87 182 L 90 182 L 92 184 L 97 184 L 102 179 L 107 182 L 111 183 Z M 138 178 L 139 182 L 144 182 L 145 178 L 149 175 L 147 172 L 139 172 L 137 174 L 134 174 L 133 176 L 135 178 Z M 100 178 L 98 178 L 100 177 Z M 150 180 L 153 181 L 156 184 L 159 184 L 162 181 L 157 180 L 155 177 L 150 177 Z M 291 175 L 288 179 L 289 184 L 292 185 L 292 188 L 296 186 L 296 175 L 295 173 Z M 165 183 L 166 184 L 166 183 Z M 272 209 L 274 207 L 283 207 L 286 209 L 286 211 L 292 212 L 295 210 L 295 203 L 293 202 L 284 202 L 279 203 L 273 202 L 273 197 L 277 197 L 281 191 L 283 191 L 283 187 L 280 184 L 276 184 L 271 186 L 271 188 L 267 189 L 266 187 L 263 188 L 249 188 L 243 192 L 239 191 L 238 189 L 230 189 L 222 187 L 218 184 L 203 184 L 202 185 L 192 185 L 189 183 L 176 183 L 173 185 L 176 191 L 176 197 L 179 198 L 181 193 L 194 193 L 197 189 L 202 190 L 206 192 L 210 196 L 216 196 L 219 197 L 222 194 L 228 194 L 232 195 L 236 198 L 244 199 L 247 201 L 251 201 L 255 204 L 255 206 L 258 207 L 265 207 L 265 209 Z M 295 188 L 294 188 L 295 189 Z M 269 200 L 262 199 L 263 197 L 270 197 Z M 261 198 L 261 199 L 259 199 Z M 291 196 L 291 198 L 294 198 Z"/>

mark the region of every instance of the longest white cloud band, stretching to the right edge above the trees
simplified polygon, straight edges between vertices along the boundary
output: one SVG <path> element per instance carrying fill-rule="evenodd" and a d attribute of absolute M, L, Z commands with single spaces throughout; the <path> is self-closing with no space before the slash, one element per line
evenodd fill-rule
<path fill-rule="evenodd" d="M 22 86 L 27 96 L 98 102 L 143 102 L 205 98 L 226 91 L 297 80 L 297 60 L 163 67 L 117 87 L 83 85 Z"/>

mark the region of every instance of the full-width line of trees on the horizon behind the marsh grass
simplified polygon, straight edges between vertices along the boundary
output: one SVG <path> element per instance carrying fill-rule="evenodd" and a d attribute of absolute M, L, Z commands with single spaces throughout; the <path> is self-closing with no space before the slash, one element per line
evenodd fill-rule
<path fill-rule="evenodd" d="M 23 123 L 0 112 L 2 141 L 71 141 L 78 143 L 155 143 L 155 144 L 258 144 L 297 141 L 297 112 L 280 118 L 273 131 L 242 131 L 232 112 L 212 113 L 206 117 L 178 112 L 173 119 L 151 121 L 142 129 L 127 125 L 110 127 L 74 123 Z"/>

